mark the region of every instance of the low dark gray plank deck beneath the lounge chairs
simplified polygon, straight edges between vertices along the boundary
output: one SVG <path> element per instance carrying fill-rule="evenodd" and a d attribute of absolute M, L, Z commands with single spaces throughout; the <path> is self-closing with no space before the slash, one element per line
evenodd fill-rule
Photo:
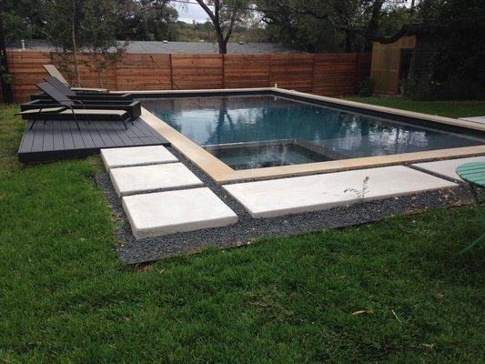
<path fill-rule="evenodd" d="M 80 130 L 74 121 L 38 120 L 30 129 L 27 121 L 24 136 L 18 148 L 21 162 L 45 162 L 56 159 L 86 157 L 109 147 L 140 147 L 170 143 L 151 126 L 138 119 L 132 125 L 112 121 L 79 121 Z"/>

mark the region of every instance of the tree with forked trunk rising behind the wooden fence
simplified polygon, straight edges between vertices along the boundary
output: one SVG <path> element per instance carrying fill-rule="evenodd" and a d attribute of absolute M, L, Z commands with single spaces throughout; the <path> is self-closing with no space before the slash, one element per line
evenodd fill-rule
<path fill-rule="evenodd" d="M 214 25 L 219 53 L 227 53 L 227 42 L 234 26 L 251 15 L 248 0 L 197 0 Z"/>

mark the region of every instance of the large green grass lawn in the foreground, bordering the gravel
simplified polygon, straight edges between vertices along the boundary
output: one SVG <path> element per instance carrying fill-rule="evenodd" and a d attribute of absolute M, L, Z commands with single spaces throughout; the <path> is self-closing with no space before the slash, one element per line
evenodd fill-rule
<path fill-rule="evenodd" d="M 0 109 L 0 362 L 483 359 L 485 248 L 457 255 L 480 233 L 471 207 L 127 266 L 99 159 L 22 167 L 15 110 Z"/>

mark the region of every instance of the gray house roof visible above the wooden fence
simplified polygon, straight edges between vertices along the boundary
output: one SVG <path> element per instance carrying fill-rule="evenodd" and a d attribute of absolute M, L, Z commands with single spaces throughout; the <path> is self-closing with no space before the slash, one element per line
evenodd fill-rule
<path fill-rule="evenodd" d="M 119 42 L 122 44 L 123 42 Z M 7 45 L 8 49 L 22 49 L 20 42 Z M 25 48 L 39 52 L 50 52 L 55 49 L 47 40 L 29 39 L 25 40 Z M 149 54 L 217 54 L 217 44 L 207 42 L 148 42 L 132 41 L 128 43 L 127 53 L 149 53 Z M 277 43 L 228 43 L 227 53 L 229 54 L 254 54 L 254 53 L 295 53 L 295 49 Z"/>

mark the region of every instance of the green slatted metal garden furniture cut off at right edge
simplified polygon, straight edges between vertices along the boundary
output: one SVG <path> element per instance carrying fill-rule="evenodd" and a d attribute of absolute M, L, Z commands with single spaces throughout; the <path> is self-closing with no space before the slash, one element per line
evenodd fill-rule
<path fill-rule="evenodd" d="M 483 230 L 482 234 L 479 238 L 473 240 L 473 242 L 467 247 L 460 251 L 460 253 L 465 253 L 473 248 L 475 245 L 480 243 L 480 241 L 485 238 L 485 213 L 480 204 L 479 194 L 477 193 L 476 187 L 483 188 L 485 187 L 485 163 L 483 162 L 472 162 L 472 163 L 465 163 L 457 167 L 456 173 L 467 182 L 470 186 L 471 195 L 475 200 L 475 205 L 477 207 L 477 212 L 480 217 L 480 225 Z"/>

